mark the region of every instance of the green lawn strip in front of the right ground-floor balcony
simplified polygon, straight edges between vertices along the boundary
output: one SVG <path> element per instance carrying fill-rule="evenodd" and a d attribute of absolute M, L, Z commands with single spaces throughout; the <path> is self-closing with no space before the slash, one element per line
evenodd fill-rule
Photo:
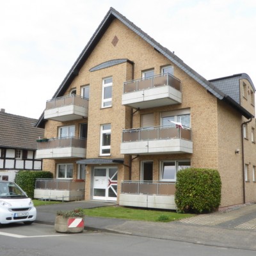
<path fill-rule="evenodd" d="M 121 206 L 106 206 L 93 209 L 84 209 L 84 212 L 86 216 L 165 222 L 195 216 L 195 214 L 179 214 L 174 211 L 156 211 Z"/>

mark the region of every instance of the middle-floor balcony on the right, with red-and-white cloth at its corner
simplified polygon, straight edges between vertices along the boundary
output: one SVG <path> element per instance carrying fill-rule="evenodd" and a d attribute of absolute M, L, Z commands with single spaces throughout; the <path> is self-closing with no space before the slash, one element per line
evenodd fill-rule
<path fill-rule="evenodd" d="M 191 129 L 159 126 L 123 130 L 121 154 L 193 153 Z"/>

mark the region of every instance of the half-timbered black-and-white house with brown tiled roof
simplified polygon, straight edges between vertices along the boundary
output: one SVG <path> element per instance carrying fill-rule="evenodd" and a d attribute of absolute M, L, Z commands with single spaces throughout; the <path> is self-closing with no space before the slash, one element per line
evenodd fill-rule
<path fill-rule="evenodd" d="M 15 179 L 19 170 L 42 170 L 42 159 L 36 158 L 36 140 L 44 129 L 36 128 L 38 120 L 0 111 L 0 180 Z"/>

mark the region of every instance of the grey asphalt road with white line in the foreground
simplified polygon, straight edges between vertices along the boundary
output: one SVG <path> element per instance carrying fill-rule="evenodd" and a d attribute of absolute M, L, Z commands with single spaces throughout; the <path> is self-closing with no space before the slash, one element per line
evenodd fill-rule
<path fill-rule="evenodd" d="M 79 234 L 60 234 L 52 225 L 33 223 L 0 228 L 0 256 L 65 255 L 182 255 L 182 256 L 255 256 L 255 251 L 205 246 L 125 234 L 84 230 Z"/>

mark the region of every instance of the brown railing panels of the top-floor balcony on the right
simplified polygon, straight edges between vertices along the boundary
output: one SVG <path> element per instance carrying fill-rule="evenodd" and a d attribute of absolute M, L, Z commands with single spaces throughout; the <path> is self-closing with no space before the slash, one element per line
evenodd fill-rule
<path fill-rule="evenodd" d="M 147 79 L 138 79 L 124 83 L 124 93 L 156 88 L 157 86 L 172 86 L 181 92 L 180 80 L 170 74 L 160 74 Z"/>

